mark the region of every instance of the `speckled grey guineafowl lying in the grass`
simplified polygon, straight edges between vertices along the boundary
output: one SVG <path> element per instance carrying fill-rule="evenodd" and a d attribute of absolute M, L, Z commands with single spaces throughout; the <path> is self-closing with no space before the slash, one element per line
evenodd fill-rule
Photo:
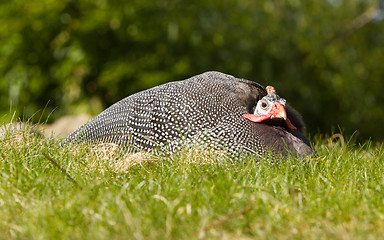
<path fill-rule="evenodd" d="M 268 113 L 276 107 L 278 113 Z M 261 115 L 268 117 L 260 119 Z M 199 145 L 233 158 L 313 154 L 302 117 L 272 86 L 215 71 L 132 94 L 79 127 L 61 145 L 95 143 L 113 143 L 130 152 L 168 153 Z"/>

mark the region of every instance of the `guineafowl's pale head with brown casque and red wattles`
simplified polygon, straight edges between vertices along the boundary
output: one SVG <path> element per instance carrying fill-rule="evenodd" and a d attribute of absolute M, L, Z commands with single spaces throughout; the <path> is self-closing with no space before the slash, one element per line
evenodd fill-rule
<path fill-rule="evenodd" d="M 289 129 L 296 130 L 296 127 L 287 118 L 285 111 L 287 101 L 276 94 L 274 87 L 267 86 L 266 90 L 268 94 L 257 102 L 254 114 L 244 114 L 243 117 L 257 123 L 285 123 Z"/>

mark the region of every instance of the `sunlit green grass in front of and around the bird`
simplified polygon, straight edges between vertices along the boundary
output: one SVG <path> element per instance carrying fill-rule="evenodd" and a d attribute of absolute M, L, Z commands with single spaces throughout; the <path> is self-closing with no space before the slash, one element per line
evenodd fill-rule
<path fill-rule="evenodd" d="M 281 164 L 184 151 L 127 167 L 112 150 L 6 134 L 0 238 L 382 238 L 383 145 L 316 147 L 316 158 Z"/>

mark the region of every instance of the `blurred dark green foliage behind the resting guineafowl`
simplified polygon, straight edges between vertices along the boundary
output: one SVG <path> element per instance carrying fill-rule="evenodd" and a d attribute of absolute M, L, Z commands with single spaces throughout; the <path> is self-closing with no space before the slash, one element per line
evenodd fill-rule
<path fill-rule="evenodd" d="M 382 140 L 380 2 L 1 1 L 0 113 L 96 115 L 137 91 L 216 70 L 275 86 L 312 136 L 340 127 Z"/>

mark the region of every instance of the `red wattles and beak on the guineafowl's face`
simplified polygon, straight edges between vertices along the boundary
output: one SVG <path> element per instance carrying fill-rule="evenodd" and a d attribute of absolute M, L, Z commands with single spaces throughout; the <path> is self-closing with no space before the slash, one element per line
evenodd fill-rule
<path fill-rule="evenodd" d="M 252 122 L 263 122 L 266 120 L 282 120 L 287 124 L 287 127 L 289 129 L 297 129 L 287 118 L 287 112 L 285 111 L 284 105 L 281 103 L 274 103 L 271 110 L 266 115 L 244 114 L 243 117 Z"/>

